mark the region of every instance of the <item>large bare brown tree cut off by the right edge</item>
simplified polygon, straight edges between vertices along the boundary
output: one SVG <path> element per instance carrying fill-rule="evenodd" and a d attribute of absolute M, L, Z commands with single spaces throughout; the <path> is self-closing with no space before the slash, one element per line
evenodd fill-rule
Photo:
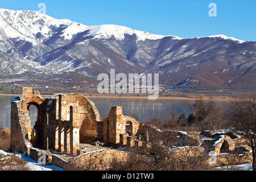
<path fill-rule="evenodd" d="M 256 170 L 256 96 L 229 101 L 225 118 L 230 127 L 249 139 L 253 152 L 253 170 Z"/>

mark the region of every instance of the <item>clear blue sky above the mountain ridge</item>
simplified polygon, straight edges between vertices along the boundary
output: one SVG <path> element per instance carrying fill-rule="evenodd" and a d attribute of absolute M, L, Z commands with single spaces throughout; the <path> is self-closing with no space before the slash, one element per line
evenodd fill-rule
<path fill-rule="evenodd" d="M 118 24 L 160 35 L 195 38 L 224 34 L 256 41 L 255 0 L 10 0 L 0 8 L 38 11 L 46 4 L 46 14 L 86 25 Z M 217 16 L 210 17 L 210 3 Z"/>

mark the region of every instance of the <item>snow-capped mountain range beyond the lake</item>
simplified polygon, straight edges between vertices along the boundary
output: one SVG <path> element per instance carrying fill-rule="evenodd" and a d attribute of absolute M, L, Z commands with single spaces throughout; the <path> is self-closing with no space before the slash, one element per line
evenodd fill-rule
<path fill-rule="evenodd" d="M 75 71 L 97 76 L 115 68 L 159 73 L 170 85 L 199 80 L 185 85 L 239 82 L 255 87 L 255 62 L 255 42 L 225 35 L 184 39 L 111 24 L 86 26 L 38 11 L 0 9 L 1 75 Z"/>

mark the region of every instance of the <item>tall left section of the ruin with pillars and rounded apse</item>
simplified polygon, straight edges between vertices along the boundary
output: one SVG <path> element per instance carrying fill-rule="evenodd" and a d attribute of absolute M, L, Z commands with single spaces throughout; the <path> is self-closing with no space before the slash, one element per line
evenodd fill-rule
<path fill-rule="evenodd" d="M 34 128 L 29 117 L 30 105 L 38 109 Z M 72 119 L 71 119 L 72 107 Z M 76 151 L 80 136 L 102 136 L 100 114 L 94 103 L 81 94 L 57 94 L 52 98 L 40 96 L 38 91 L 24 87 L 22 94 L 11 101 L 11 147 L 18 152 L 30 152 L 32 147 Z M 19 147 L 18 147 L 19 146 Z M 73 151 L 73 150 L 72 150 Z"/>

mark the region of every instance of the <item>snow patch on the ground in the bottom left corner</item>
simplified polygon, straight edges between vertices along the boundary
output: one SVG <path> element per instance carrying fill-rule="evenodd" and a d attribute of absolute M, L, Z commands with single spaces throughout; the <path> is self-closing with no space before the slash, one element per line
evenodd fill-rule
<path fill-rule="evenodd" d="M 13 155 L 11 152 L 5 152 L 0 150 L 0 155 Z M 30 158 L 30 155 L 25 156 L 23 154 L 16 154 L 19 158 L 22 158 L 24 161 L 27 162 L 25 167 L 30 168 L 31 171 L 64 171 L 63 168 L 53 166 L 53 165 L 43 165 L 39 164 L 36 160 Z"/>

